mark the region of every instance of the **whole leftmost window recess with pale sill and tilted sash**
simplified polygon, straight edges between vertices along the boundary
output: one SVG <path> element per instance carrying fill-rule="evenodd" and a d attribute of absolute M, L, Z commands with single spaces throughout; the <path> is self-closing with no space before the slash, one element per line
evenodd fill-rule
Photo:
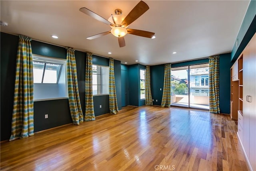
<path fill-rule="evenodd" d="M 33 55 L 34 101 L 68 98 L 66 59 Z"/>

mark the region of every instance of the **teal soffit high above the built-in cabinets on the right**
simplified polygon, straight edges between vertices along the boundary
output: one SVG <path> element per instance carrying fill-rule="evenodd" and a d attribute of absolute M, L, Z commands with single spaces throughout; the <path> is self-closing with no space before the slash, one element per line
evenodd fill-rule
<path fill-rule="evenodd" d="M 231 61 L 234 63 L 239 55 L 242 53 L 250 39 L 256 32 L 256 0 L 251 0 L 244 16 L 241 28 L 238 32 L 236 40 L 238 39 L 238 46 L 234 43 L 231 51 Z"/>

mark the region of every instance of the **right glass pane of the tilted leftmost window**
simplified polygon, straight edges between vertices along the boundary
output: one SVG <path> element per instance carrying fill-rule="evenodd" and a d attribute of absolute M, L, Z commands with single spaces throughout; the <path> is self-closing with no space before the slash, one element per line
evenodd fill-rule
<path fill-rule="evenodd" d="M 57 83 L 61 65 L 46 63 L 43 83 Z"/>

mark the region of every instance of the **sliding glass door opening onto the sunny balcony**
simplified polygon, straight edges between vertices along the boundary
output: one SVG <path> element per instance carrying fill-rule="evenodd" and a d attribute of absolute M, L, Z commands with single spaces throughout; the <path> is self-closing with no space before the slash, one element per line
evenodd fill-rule
<path fill-rule="evenodd" d="M 172 68 L 171 105 L 209 109 L 209 64 Z"/>

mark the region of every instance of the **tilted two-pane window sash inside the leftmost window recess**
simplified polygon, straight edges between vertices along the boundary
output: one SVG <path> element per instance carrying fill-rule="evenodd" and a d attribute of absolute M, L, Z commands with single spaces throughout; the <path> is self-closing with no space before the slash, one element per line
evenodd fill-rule
<path fill-rule="evenodd" d="M 58 84 L 62 64 L 33 60 L 34 83 Z"/>

